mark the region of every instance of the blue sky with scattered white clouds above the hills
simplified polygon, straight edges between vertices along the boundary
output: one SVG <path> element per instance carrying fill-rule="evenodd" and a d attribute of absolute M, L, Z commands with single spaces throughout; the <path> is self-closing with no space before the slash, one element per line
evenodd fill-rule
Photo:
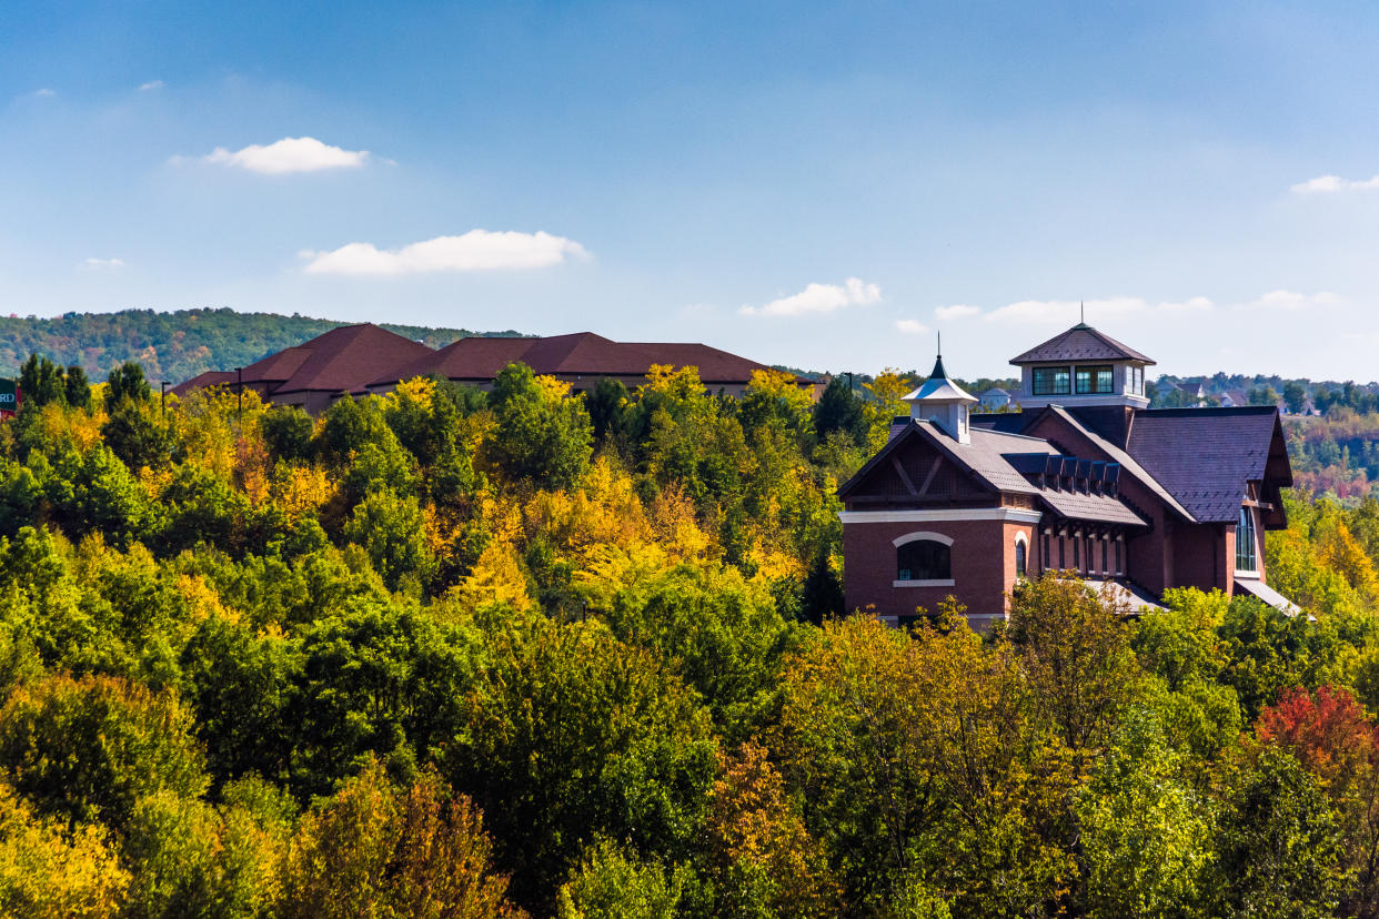
<path fill-rule="evenodd" d="M 1373 4 L 0 6 L 0 313 L 1379 378 Z M 285 142 L 285 143 L 284 143 Z"/>

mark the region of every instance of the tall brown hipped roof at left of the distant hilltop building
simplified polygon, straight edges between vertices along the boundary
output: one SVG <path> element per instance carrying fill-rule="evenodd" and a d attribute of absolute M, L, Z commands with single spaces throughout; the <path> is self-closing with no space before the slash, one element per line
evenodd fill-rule
<path fill-rule="evenodd" d="M 371 322 L 342 325 L 309 342 L 269 354 L 244 368 L 245 383 L 269 383 L 272 393 L 353 393 L 370 380 L 434 354 L 421 342 Z"/>

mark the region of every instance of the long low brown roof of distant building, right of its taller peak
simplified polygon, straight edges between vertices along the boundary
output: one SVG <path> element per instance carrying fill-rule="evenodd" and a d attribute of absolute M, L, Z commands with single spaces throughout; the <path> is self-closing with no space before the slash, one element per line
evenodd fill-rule
<path fill-rule="evenodd" d="M 433 373 L 451 380 L 491 380 L 514 361 L 536 373 L 568 376 L 645 376 L 654 364 L 694 366 L 705 383 L 746 383 L 754 371 L 769 369 L 707 344 L 614 342 L 593 332 L 575 332 L 536 339 L 463 338 L 390 368 L 371 384 Z"/>

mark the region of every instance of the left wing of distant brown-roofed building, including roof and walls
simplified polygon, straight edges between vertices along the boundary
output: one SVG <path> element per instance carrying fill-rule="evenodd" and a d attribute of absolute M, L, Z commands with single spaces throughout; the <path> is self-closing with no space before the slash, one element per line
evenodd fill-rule
<path fill-rule="evenodd" d="M 211 371 L 172 389 L 183 395 L 205 386 L 243 384 L 265 401 L 317 413 L 342 395 L 363 395 L 389 369 L 416 361 L 432 349 L 370 322 L 342 325 L 309 342 L 255 361 L 241 371 Z"/>

